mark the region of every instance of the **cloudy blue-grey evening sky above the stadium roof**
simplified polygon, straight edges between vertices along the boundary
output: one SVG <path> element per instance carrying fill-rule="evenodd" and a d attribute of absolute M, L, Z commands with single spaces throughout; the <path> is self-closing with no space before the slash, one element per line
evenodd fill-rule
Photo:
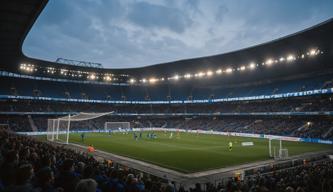
<path fill-rule="evenodd" d="M 226 53 L 333 17 L 332 0 L 50 0 L 27 56 L 133 68 Z"/>

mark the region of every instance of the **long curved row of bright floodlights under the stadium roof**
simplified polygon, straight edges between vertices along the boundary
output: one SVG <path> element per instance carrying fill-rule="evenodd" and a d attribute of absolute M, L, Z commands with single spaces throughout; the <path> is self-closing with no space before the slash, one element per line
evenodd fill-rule
<path fill-rule="evenodd" d="M 320 51 L 319 49 L 311 49 L 306 54 L 302 54 L 300 56 L 295 56 L 293 54 L 289 54 L 286 57 L 280 57 L 278 59 L 269 58 L 261 64 L 251 62 L 248 65 L 242 65 L 242 66 L 237 67 L 237 68 L 229 67 L 229 68 L 225 68 L 225 69 L 217 69 L 215 71 L 213 71 L 213 70 L 200 71 L 200 72 L 194 73 L 194 74 L 193 73 L 186 73 L 184 75 L 178 75 L 177 74 L 177 75 L 174 75 L 172 77 L 167 77 L 167 78 L 151 77 L 151 78 L 143 78 L 143 79 L 140 79 L 138 81 L 134 78 L 131 78 L 131 79 L 128 80 L 128 83 L 135 84 L 137 82 L 140 82 L 140 83 L 143 83 L 143 84 L 146 84 L 146 83 L 154 84 L 154 83 L 163 82 L 163 81 L 166 81 L 166 80 L 178 81 L 180 79 L 187 79 L 187 80 L 192 79 L 192 78 L 200 79 L 200 78 L 204 78 L 204 77 L 212 77 L 214 75 L 231 74 L 234 71 L 254 70 L 255 68 L 260 67 L 260 66 L 265 66 L 265 65 L 266 66 L 271 66 L 271 65 L 276 64 L 276 63 L 283 63 L 283 62 L 289 63 L 289 62 L 293 62 L 297 59 L 304 59 L 306 56 L 313 57 L 313 56 L 316 56 L 316 55 L 322 54 L 322 53 L 323 52 Z M 32 73 L 32 72 L 37 71 L 37 67 L 33 64 L 21 64 L 20 65 L 20 70 L 22 70 L 24 72 L 27 72 L 27 73 Z M 56 68 L 53 68 L 53 67 L 47 67 L 46 72 L 48 74 L 56 74 L 57 70 L 56 70 Z M 104 81 L 107 81 L 107 82 L 118 80 L 118 78 L 114 77 L 113 74 L 109 74 L 109 73 L 107 73 L 107 74 L 97 74 L 97 73 L 91 73 L 91 72 L 85 72 L 85 71 L 76 71 L 76 70 L 68 70 L 68 69 L 60 69 L 60 75 L 70 76 L 70 77 L 78 77 L 78 78 L 86 77 L 88 80 L 93 80 L 93 81 L 94 80 L 99 80 L 99 79 L 103 79 Z M 102 76 L 102 77 L 100 78 L 100 76 Z M 120 75 L 120 76 L 128 77 L 128 75 Z"/>

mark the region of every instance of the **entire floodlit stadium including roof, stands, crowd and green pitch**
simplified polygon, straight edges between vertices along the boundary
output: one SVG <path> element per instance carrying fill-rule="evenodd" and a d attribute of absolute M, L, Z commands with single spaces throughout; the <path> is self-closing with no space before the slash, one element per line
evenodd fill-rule
<path fill-rule="evenodd" d="M 0 191 L 333 191 L 333 19 L 109 69 L 22 52 L 47 4 L 0 3 Z"/>

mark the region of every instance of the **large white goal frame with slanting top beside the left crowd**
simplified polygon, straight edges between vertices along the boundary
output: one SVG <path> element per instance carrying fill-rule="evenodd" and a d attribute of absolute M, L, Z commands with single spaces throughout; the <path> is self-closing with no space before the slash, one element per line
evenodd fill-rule
<path fill-rule="evenodd" d="M 48 127 L 47 127 L 47 140 L 48 141 L 59 141 L 59 134 L 62 134 L 64 131 L 60 130 L 61 123 L 67 123 L 65 130 L 65 144 L 69 143 L 69 133 L 71 122 L 79 122 L 79 121 L 87 121 L 96 119 L 105 115 L 112 114 L 113 112 L 107 113 L 78 113 L 75 115 L 67 115 L 64 117 L 59 117 L 55 119 L 48 119 Z"/>

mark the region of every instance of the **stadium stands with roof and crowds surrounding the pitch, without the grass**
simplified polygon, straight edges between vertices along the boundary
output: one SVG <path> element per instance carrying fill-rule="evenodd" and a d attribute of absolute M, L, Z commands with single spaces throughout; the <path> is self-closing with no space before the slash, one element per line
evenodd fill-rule
<path fill-rule="evenodd" d="M 333 191 L 333 164 L 327 156 L 295 160 L 288 167 L 266 166 L 243 179 L 186 189 L 165 178 L 15 133 L 46 131 L 49 118 L 113 111 L 72 129 L 100 130 L 107 121 L 126 121 L 133 128 L 332 141 L 332 19 L 231 53 L 136 69 L 103 69 L 22 53 L 23 41 L 47 2 L 0 2 L 5 29 L 0 30 L 0 191 Z M 295 55 L 287 56 L 289 51 Z M 266 61 L 268 56 L 275 60 Z M 256 63 L 243 66 L 250 61 Z M 214 70 L 214 75 L 207 70 Z M 106 74 L 112 74 L 112 81 Z M 151 74 L 158 78 L 151 79 Z"/>

